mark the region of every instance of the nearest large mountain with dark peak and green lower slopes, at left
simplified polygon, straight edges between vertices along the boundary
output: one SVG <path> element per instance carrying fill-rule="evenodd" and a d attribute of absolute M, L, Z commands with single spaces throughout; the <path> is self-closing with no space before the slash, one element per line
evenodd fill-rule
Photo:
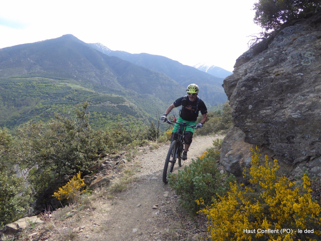
<path fill-rule="evenodd" d="M 184 93 L 168 76 L 109 57 L 72 35 L 0 49 L 0 126 L 9 129 L 84 101 L 96 127 L 151 120 Z"/>

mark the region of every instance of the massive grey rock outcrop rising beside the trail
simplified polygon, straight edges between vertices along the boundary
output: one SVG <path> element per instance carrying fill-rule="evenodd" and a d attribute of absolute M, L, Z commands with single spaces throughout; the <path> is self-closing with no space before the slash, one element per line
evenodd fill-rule
<path fill-rule="evenodd" d="M 288 174 L 321 170 L 321 14 L 300 20 L 241 55 L 224 79 L 234 128 L 221 164 L 236 175 L 249 147 L 277 158 Z M 237 148 L 235 148 L 237 145 Z"/>

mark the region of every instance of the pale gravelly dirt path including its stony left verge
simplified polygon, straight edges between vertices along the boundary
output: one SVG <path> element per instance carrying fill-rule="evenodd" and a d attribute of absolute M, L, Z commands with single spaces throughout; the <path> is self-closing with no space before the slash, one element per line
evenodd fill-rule
<path fill-rule="evenodd" d="M 218 136 L 195 137 L 188 152 L 192 158 L 213 146 Z M 222 137 L 220 137 L 222 138 Z M 44 223 L 30 228 L 20 240 L 90 240 L 151 241 L 206 240 L 205 220 L 191 220 L 179 206 L 179 197 L 162 182 L 162 171 L 169 143 L 160 147 L 142 147 L 135 158 L 125 164 L 135 171 L 131 183 L 122 192 L 95 190 L 96 199 L 86 205 L 56 210 Z M 124 170 L 124 169 L 123 169 Z M 177 172 L 178 165 L 174 172 Z M 117 178 L 114 180 L 117 182 Z"/>

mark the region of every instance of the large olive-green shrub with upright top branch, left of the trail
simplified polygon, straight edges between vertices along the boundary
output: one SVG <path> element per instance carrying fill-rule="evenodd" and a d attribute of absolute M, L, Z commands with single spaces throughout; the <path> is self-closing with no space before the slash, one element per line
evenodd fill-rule
<path fill-rule="evenodd" d="M 52 191 L 79 171 L 82 176 L 88 174 L 89 167 L 108 149 L 109 134 L 91 128 L 87 105 L 77 106 L 75 116 L 57 114 L 56 120 L 47 124 L 27 123 L 17 129 L 17 159 L 30 169 L 29 181 L 44 204 Z"/>

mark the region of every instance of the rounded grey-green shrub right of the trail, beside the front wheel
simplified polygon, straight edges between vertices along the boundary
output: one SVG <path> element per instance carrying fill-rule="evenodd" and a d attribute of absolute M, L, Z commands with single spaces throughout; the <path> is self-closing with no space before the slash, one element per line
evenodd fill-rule
<path fill-rule="evenodd" d="M 213 199 L 226 193 L 232 180 L 233 175 L 226 178 L 226 175 L 220 173 L 212 157 L 192 160 L 189 166 L 178 170 L 178 174 L 169 175 L 169 185 L 180 196 L 181 206 L 191 217 L 202 209 L 196 200 L 203 199 L 204 205 L 210 204 Z"/>

